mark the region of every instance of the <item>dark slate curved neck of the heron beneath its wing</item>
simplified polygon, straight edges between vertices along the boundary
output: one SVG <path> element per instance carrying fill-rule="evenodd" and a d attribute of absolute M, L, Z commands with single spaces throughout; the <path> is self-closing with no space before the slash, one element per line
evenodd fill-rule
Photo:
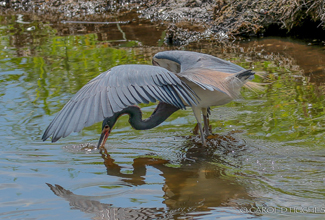
<path fill-rule="evenodd" d="M 157 108 L 152 115 L 142 120 L 142 112 L 138 106 L 129 106 L 121 111 L 122 114 L 130 115 L 129 122 L 131 126 L 136 130 L 147 130 L 154 128 L 164 122 L 171 114 L 179 110 L 179 108 L 159 102 Z"/>

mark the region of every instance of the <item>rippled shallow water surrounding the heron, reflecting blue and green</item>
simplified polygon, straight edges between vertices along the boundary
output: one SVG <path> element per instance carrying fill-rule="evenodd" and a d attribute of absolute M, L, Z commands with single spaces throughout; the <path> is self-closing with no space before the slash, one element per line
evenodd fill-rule
<path fill-rule="evenodd" d="M 85 27 L 0 16 L 0 218 L 323 218 L 324 46 L 266 38 L 171 48 L 163 28 L 141 20 Z M 218 135 L 207 148 L 191 134 L 189 109 L 149 131 L 121 117 L 103 155 L 92 150 L 100 123 L 41 141 L 90 79 L 170 49 L 231 60 L 268 84 L 212 108 Z M 149 116 L 155 105 L 142 107 Z"/>

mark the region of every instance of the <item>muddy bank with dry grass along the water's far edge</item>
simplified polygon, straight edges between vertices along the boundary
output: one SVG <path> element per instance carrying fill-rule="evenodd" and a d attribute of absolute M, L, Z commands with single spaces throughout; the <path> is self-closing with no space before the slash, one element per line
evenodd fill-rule
<path fill-rule="evenodd" d="M 307 34 L 307 37 L 322 40 L 325 36 L 324 2 L 0 0 L 0 10 L 2 13 L 35 14 L 49 21 L 116 21 L 126 20 L 130 17 L 128 14 L 137 13 L 139 18 L 166 26 L 166 43 L 183 45 L 201 39 L 225 40 L 279 34 L 298 37 Z"/>

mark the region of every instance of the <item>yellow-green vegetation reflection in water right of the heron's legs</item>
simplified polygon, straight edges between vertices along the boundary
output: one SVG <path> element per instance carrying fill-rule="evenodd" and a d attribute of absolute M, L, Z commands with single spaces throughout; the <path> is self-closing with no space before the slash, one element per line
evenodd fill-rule
<path fill-rule="evenodd" d="M 266 86 L 266 93 L 260 95 L 244 90 L 247 100 L 244 105 L 229 104 L 240 114 L 225 125 L 235 124 L 252 138 L 319 143 L 323 140 L 320 134 L 324 132 L 321 126 L 325 120 L 324 96 L 317 94 L 315 85 L 306 83 L 305 77 L 293 77 L 291 71 L 269 64 L 270 61 L 253 64 L 256 71 L 277 72 L 277 76 L 269 75 L 271 84 Z"/>

